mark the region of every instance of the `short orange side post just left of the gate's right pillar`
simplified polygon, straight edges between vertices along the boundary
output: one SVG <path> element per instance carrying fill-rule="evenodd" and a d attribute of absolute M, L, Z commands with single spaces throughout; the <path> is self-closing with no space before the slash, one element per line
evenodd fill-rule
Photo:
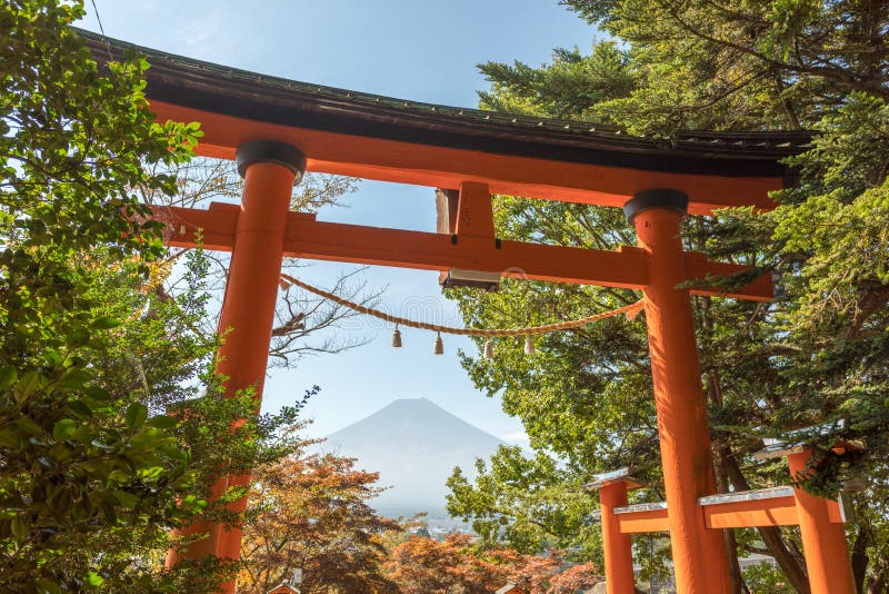
<path fill-rule="evenodd" d="M 627 482 L 606 483 L 599 489 L 602 511 L 602 548 L 605 550 L 605 580 L 608 594 L 633 594 L 636 578 L 632 573 L 632 543 L 630 535 L 620 532 L 615 507 L 627 501 Z"/>

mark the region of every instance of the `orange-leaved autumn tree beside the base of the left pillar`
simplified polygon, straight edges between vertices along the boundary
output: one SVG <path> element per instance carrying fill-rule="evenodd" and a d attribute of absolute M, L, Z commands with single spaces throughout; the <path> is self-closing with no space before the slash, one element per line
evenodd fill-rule
<path fill-rule="evenodd" d="M 381 535 L 400 524 L 367 501 L 381 489 L 377 473 L 332 455 L 293 457 L 259 469 L 244 525 L 239 592 L 264 594 L 303 572 L 302 594 L 398 592 L 381 573 Z"/>

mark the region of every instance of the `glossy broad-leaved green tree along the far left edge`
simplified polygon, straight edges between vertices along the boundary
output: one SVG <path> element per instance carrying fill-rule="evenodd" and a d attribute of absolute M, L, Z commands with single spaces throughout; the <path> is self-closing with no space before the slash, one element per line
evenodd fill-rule
<path fill-rule="evenodd" d="M 100 73 L 68 29 L 81 14 L 43 1 L 0 11 L 0 581 L 13 590 L 101 584 L 94 560 L 68 553 L 170 513 L 188 467 L 169 419 L 107 382 L 132 310 L 102 290 L 147 279 L 140 260 L 159 242 L 127 189 L 172 191 L 142 161 L 187 158 L 196 128 L 152 121 L 143 61 Z"/>

